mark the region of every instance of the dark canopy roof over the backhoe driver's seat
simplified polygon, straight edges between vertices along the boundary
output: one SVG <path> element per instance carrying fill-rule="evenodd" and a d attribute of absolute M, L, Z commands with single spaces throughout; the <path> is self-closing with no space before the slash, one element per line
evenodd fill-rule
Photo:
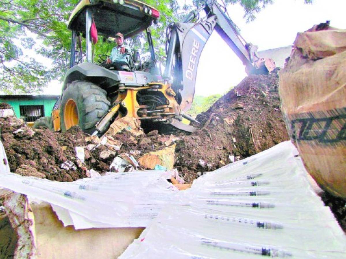
<path fill-rule="evenodd" d="M 73 10 L 67 28 L 85 33 L 85 9 L 90 8 L 97 32 L 113 36 L 117 32 L 131 37 L 157 20 L 157 9 L 137 0 L 82 0 Z"/>

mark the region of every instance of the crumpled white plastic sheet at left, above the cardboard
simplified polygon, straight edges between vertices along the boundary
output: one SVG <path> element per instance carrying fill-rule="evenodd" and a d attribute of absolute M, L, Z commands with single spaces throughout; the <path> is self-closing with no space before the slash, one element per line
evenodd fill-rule
<path fill-rule="evenodd" d="M 64 225 L 76 229 L 146 227 L 177 192 L 160 171 L 112 173 L 75 182 L 4 173 L 0 187 L 51 203 Z M 156 212 L 148 215 L 148 207 Z"/>

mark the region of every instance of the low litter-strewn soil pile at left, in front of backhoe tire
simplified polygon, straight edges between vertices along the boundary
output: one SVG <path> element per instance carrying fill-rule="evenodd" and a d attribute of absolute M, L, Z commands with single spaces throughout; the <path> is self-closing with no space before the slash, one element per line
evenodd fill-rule
<path fill-rule="evenodd" d="M 52 132 L 41 127 L 31 129 L 15 117 L 0 118 L 0 131 L 11 172 L 53 181 L 85 178 L 90 169 L 104 174 L 117 155 L 128 153 L 138 160 L 148 152 L 170 146 L 173 138 L 157 130 L 138 137 L 125 131 L 116 136 L 121 143 L 117 150 L 100 144 L 97 137 L 90 137 L 78 126 L 64 133 Z M 75 147 L 83 148 L 84 163 L 77 159 Z"/>

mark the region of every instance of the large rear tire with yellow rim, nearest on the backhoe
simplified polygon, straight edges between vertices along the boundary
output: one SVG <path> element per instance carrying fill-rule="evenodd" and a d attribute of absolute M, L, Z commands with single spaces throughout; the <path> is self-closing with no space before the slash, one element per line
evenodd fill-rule
<path fill-rule="evenodd" d="M 72 126 L 79 125 L 84 132 L 92 134 L 95 124 L 107 113 L 109 107 L 105 90 L 90 82 L 74 81 L 67 86 L 61 99 L 61 130 L 65 132 Z"/>

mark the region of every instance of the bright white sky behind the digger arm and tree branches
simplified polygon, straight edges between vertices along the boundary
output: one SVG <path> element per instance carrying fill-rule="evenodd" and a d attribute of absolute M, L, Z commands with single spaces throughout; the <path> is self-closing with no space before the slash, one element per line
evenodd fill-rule
<path fill-rule="evenodd" d="M 333 27 L 346 29 L 346 0 L 314 0 L 313 4 L 303 2 L 274 0 L 274 4 L 263 9 L 250 23 L 245 22 L 244 10 L 239 5 L 229 5 L 227 10 L 243 38 L 257 45 L 259 51 L 291 45 L 297 32 L 326 20 L 330 20 Z M 213 32 L 201 54 L 195 94 L 209 96 L 225 93 L 246 76 L 244 70 L 238 57 Z M 55 81 L 44 93 L 59 95 L 61 86 Z"/>

